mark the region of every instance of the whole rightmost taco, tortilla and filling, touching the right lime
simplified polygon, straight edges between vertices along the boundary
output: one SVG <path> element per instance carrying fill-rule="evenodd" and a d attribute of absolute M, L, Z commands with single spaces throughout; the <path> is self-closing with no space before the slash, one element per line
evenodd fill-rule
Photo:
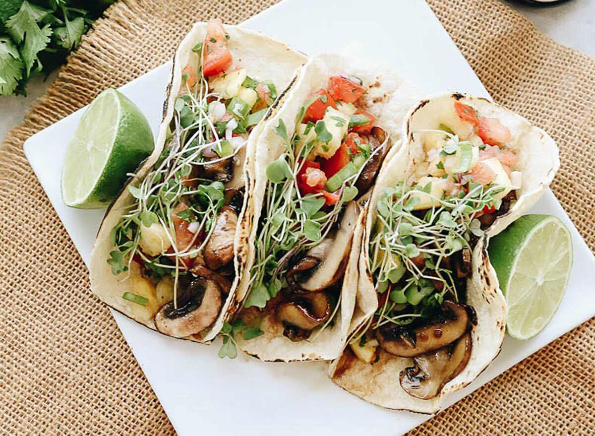
<path fill-rule="evenodd" d="M 488 238 L 537 201 L 559 167 L 543 130 L 483 98 L 420 102 L 368 204 L 359 325 L 330 366 L 339 386 L 434 413 L 497 356 L 506 304 Z"/>

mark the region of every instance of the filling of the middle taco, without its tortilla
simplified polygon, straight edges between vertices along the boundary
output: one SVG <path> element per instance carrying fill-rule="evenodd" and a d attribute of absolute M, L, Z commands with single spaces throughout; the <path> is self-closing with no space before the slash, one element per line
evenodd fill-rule
<path fill-rule="evenodd" d="M 390 147 L 356 77 L 333 76 L 276 133 L 286 151 L 266 170 L 250 288 L 240 317 L 277 325 L 291 341 L 333 325 L 358 217 Z M 315 333 L 314 333 L 315 335 Z"/>

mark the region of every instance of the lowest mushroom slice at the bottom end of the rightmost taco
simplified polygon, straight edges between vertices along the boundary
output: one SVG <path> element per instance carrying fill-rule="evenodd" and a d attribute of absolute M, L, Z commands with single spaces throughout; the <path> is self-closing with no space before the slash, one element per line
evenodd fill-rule
<path fill-rule="evenodd" d="M 436 397 L 445 384 L 465 368 L 471 357 L 471 334 L 454 344 L 414 357 L 414 366 L 399 374 L 401 387 L 422 400 Z"/>

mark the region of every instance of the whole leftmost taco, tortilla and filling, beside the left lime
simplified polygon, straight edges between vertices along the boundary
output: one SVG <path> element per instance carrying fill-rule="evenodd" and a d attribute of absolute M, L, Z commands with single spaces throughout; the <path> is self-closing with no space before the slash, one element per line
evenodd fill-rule
<path fill-rule="evenodd" d="M 239 281 L 246 148 L 306 57 L 250 30 L 197 23 L 174 57 L 155 151 L 109 207 L 92 291 L 177 338 L 209 341 Z"/>

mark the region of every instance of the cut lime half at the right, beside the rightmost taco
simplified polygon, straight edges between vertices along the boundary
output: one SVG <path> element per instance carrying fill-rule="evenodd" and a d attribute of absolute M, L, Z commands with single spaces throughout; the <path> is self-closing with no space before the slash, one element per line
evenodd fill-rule
<path fill-rule="evenodd" d="M 525 215 L 490 240 L 488 253 L 508 305 L 506 331 L 516 339 L 534 337 L 558 310 L 568 285 L 570 232 L 558 217 Z"/>

